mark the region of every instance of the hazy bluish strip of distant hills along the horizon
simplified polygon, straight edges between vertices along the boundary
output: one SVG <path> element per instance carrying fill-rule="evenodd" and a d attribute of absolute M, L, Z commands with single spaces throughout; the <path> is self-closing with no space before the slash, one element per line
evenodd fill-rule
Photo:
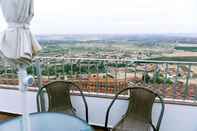
<path fill-rule="evenodd" d="M 53 43 L 184 43 L 197 44 L 197 35 L 188 34 L 132 34 L 132 35 L 38 35 L 36 36 L 41 44 Z"/>

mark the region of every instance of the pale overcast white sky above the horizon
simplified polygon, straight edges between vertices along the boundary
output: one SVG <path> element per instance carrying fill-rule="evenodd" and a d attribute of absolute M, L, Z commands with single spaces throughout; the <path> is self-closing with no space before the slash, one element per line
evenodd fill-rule
<path fill-rule="evenodd" d="M 197 0 L 34 0 L 35 34 L 197 33 Z M 6 23 L 0 11 L 0 32 Z"/>

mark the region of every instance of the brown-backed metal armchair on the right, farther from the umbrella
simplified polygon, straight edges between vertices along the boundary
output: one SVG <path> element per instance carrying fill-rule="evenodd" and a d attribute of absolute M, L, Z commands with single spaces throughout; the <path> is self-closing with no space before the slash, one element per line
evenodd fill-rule
<path fill-rule="evenodd" d="M 151 128 L 153 131 L 159 131 L 165 105 L 161 96 L 145 87 L 129 87 L 116 94 L 106 112 L 105 129 L 108 130 L 109 112 L 112 105 L 118 96 L 125 91 L 130 91 L 129 106 L 122 120 L 112 131 L 149 131 Z M 162 108 L 157 125 L 154 126 L 152 123 L 152 107 L 156 97 L 159 98 Z"/>

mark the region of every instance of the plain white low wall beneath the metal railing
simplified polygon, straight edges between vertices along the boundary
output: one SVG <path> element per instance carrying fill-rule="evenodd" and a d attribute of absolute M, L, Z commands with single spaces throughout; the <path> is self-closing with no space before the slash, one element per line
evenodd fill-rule
<path fill-rule="evenodd" d="M 104 125 L 105 113 L 111 99 L 86 97 L 89 106 L 89 120 L 94 125 Z M 73 106 L 77 115 L 85 119 L 84 105 L 80 96 L 72 96 Z M 118 100 L 111 110 L 109 124 L 113 126 L 120 120 L 127 108 L 126 100 Z M 36 93 L 28 92 L 28 109 L 36 112 Z M 0 89 L 0 111 L 21 113 L 20 92 L 16 90 Z M 160 104 L 153 108 L 153 121 L 156 121 L 160 111 Z M 197 131 L 197 106 L 183 106 L 166 104 L 161 131 Z"/>

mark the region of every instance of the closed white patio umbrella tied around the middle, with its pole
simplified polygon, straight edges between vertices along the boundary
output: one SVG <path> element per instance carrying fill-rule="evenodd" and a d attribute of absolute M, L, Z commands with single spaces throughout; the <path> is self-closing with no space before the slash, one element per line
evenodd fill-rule
<path fill-rule="evenodd" d="M 29 26 L 34 16 L 33 0 L 0 0 L 3 15 L 8 28 L 0 35 L 0 53 L 9 62 L 18 65 L 19 89 L 22 95 L 24 131 L 30 131 L 29 118 L 26 110 L 26 66 L 41 46 L 33 37 Z"/>

